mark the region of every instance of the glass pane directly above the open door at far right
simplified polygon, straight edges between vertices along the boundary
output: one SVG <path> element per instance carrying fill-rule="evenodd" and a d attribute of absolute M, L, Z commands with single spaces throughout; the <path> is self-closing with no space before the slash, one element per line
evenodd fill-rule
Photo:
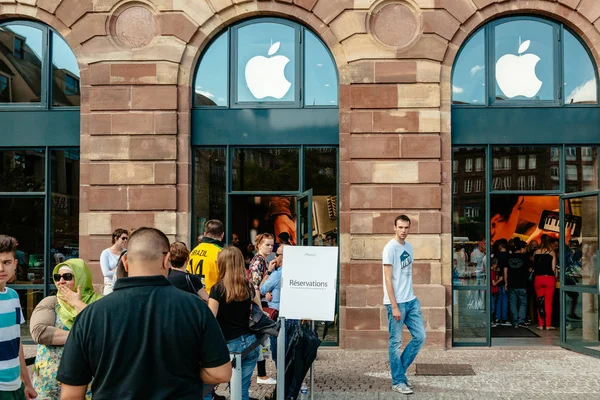
<path fill-rule="evenodd" d="M 570 146 L 565 148 L 567 192 L 598 189 L 598 148 Z"/>

